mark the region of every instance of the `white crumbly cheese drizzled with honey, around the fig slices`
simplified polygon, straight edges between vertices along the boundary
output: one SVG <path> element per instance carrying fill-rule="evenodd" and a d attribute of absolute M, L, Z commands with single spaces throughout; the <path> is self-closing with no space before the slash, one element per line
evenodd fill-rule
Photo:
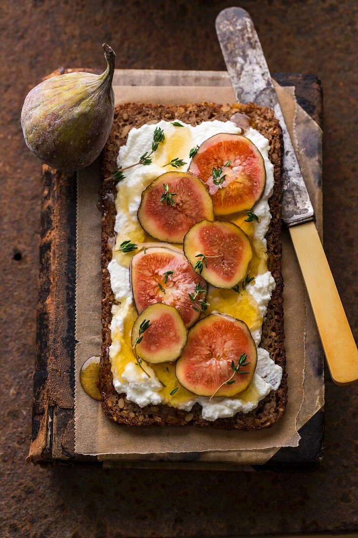
<path fill-rule="evenodd" d="M 163 169 L 163 165 L 170 158 L 173 158 L 171 155 L 187 162 L 187 164 L 179 168 L 180 171 L 186 172 L 190 161 L 188 155 L 192 147 L 201 145 L 204 140 L 214 134 L 241 133 L 241 129 L 232 122 L 219 122 L 215 120 L 213 122 L 203 122 L 195 127 L 187 124 L 183 125 L 182 128 L 178 128 L 170 122 L 161 121 L 155 125 L 143 125 L 139 129 L 132 129 L 128 134 L 126 145 L 120 148 L 118 166 L 125 168 L 132 165 L 133 162 L 137 162 L 141 155 L 148 151 L 148 148 L 151 148 L 156 127 L 164 130 L 166 141 L 153 154 L 152 164 L 148 166 L 135 166 L 128 169 L 125 171 L 125 180 L 119 182 L 117 185 L 117 216 L 114 226 L 117 232 L 117 247 L 126 239 L 137 243 L 145 240 L 145 233 L 141 229 L 137 219 L 141 193 L 157 176 L 161 175 L 164 171 L 168 171 L 167 169 Z M 251 298 L 250 308 L 253 308 L 253 303 L 255 305 L 255 312 L 257 311 L 256 322 L 249 328 L 256 346 L 259 346 L 262 319 L 266 315 L 267 305 L 271 293 L 275 288 L 275 281 L 271 273 L 267 271 L 266 239 L 264 239 L 271 220 L 268 199 L 273 192 L 274 167 L 268 158 L 268 140 L 252 128 L 249 128 L 244 134 L 261 152 L 266 168 L 264 193 L 254 207 L 254 212 L 259 217 L 260 222 L 253 223 L 251 237 L 254 251 L 260 263 L 257 266 L 258 274 L 255 276 L 255 280 L 246 287 L 246 293 Z M 210 400 L 205 397 L 196 397 L 194 394 L 186 391 L 187 394 L 185 397 L 173 397 L 170 400 L 164 397 L 163 386 L 153 368 L 144 363 L 145 370 L 149 373 L 150 377 L 146 376 L 135 365 L 135 359 L 131 353 L 130 332 L 135 318 L 135 311 L 132 305 L 127 257 L 123 257 L 121 253 L 113 252 L 113 259 L 108 268 L 112 291 L 116 300 L 120 302 L 120 305 L 112 307 L 112 344 L 109 350 L 113 385 L 118 393 L 125 393 L 128 400 L 135 402 L 140 407 L 162 403 L 189 411 L 197 402 L 202 406 L 203 419 L 213 421 L 220 417 L 234 416 L 238 412 L 248 413 L 257 407 L 260 400 L 271 390 L 278 388 L 281 383 L 282 369 L 270 359 L 269 353 L 266 350 L 258 348 L 257 367 L 253 381 L 244 392 L 237 396 L 232 398 L 213 398 Z M 240 300 L 243 301 L 238 297 L 238 301 Z M 243 305 L 244 303 L 245 301 L 242 302 Z M 259 326 L 257 326 L 257 318 L 261 320 Z M 179 394 L 179 391 L 177 394 Z"/>

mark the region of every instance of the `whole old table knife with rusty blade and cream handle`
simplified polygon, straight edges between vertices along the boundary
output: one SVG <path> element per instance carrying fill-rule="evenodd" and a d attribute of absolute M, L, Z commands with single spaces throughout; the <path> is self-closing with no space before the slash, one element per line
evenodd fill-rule
<path fill-rule="evenodd" d="M 280 122 L 284 143 L 282 219 L 289 227 L 332 379 L 337 385 L 353 383 L 358 379 L 358 350 L 254 24 L 244 9 L 227 8 L 216 19 L 216 32 L 237 101 L 270 107 Z"/>

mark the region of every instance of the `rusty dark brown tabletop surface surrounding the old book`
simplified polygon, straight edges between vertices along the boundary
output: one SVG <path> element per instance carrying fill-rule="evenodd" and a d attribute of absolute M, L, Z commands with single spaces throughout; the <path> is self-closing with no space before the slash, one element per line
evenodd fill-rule
<path fill-rule="evenodd" d="M 40 163 L 19 117 L 27 92 L 63 66 L 224 69 L 214 18 L 235 2 L 2 2 L 2 536 L 234 536 L 358 530 L 358 384 L 327 379 L 326 455 L 311 474 L 41 469 L 31 434 Z M 325 93 L 325 250 L 357 335 L 357 3 L 238 3 L 269 67 L 313 73 Z M 18 259 L 21 258 L 21 259 Z M 319 275 L 318 275 L 319 278 Z M 337 342 L 339 353 L 339 342 Z"/>

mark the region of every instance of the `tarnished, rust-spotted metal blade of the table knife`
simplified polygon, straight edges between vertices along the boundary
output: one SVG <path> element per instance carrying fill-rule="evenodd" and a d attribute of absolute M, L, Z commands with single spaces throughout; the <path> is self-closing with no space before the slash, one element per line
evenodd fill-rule
<path fill-rule="evenodd" d="M 280 122 L 283 155 L 282 219 L 288 226 L 314 220 L 310 196 L 278 103 L 273 81 L 251 17 L 241 8 L 227 8 L 216 19 L 216 31 L 235 97 L 272 108 Z"/>

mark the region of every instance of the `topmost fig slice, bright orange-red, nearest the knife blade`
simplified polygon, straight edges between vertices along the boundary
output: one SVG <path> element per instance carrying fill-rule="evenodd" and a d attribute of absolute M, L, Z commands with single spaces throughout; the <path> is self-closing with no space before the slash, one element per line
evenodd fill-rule
<path fill-rule="evenodd" d="M 251 209 L 266 183 L 260 151 L 241 134 L 219 133 L 205 140 L 192 158 L 189 172 L 209 187 L 216 216 Z"/>

